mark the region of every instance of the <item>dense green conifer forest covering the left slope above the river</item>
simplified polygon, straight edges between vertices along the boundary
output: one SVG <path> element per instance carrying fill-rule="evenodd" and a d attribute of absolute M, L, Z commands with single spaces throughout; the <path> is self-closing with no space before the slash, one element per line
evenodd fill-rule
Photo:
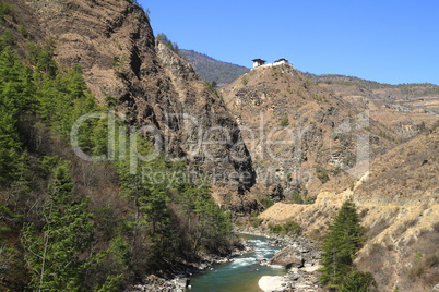
<path fill-rule="evenodd" d="M 2 4 L 1 13 L 13 10 Z M 230 217 L 209 182 L 171 180 L 190 175 L 162 155 L 133 171 L 130 153 L 118 150 L 129 151 L 128 132 L 108 143 L 116 98 L 98 106 L 80 65 L 57 65 L 51 40 L 26 37 L 19 57 L 17 33 L 0 38 L 1 290 L 120 291 L 147 273 L 170 276 L 181 263 L 228 254 Z M 75 121 L 91 112 L 100 119 L 82 123 L 71 139 Z M 82 160 L 71 141 L 108 161 Z M 134 145 L 153 150 L 142 136 Z"/>

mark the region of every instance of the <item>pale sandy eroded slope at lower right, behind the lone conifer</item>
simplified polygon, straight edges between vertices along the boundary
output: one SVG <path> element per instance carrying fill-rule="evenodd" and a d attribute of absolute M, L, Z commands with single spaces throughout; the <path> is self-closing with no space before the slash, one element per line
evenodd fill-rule
<path fill-rule="evenodd" d="M 379 291 L 432 291 L 439 282 L 439 130 L 376 158 L 353 184 L 333 179 L 312 205 L 277 203 L 264 224 L 298 222 L 320 238 L 343 202 L 353 197 L 368 241 L 355 264 L 370 271 Z"/>

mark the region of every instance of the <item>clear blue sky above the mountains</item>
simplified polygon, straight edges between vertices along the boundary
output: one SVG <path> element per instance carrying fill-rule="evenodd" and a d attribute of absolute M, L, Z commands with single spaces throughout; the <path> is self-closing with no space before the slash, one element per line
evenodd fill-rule
<path fill-rule="evenodd" d="M 154 34 L 250 68 L 280 58 L 315 74 L 439 84 L 439 1 L 149 1 Z"/>

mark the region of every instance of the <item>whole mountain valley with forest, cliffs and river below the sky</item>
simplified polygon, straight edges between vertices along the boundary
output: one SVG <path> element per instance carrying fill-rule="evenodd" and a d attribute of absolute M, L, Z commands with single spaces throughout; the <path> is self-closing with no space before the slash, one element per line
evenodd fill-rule
<path fill-rule="evenodd" d="M 0 12 L 1 290 L 439 291 L 438 85 L 179 51 L 137 1 Z"/>

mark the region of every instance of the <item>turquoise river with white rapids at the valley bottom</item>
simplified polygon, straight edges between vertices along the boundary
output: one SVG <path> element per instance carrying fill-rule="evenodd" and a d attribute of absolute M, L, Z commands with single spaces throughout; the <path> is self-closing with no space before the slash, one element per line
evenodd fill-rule
<path fill-rule="evenodd" d="M 263 236 L 242 234 L 253 252 L 236 257 L 233 261 L 216 265 L 191 278 L 193 292 L 257 292 L 262 291 L 258 281 L 262 276 L 283 276 L 282 267 L 260 266 L 257 258 L 270 259 L 282 247 L 270 245 Z"/>

